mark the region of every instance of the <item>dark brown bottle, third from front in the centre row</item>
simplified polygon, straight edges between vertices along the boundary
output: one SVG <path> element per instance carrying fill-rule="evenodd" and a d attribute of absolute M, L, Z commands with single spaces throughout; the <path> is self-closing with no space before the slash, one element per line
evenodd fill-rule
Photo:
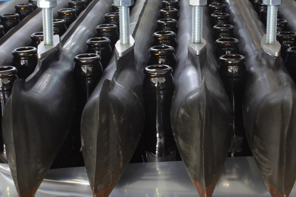
<path fill-rule="evenodd" d="M 168 45 L 172 46 L 176 49 L 177 41 L 176 41 L 176 33 L 172 31 L 160 31 L 153 33 L 153 46 L 157 45 Z"/>

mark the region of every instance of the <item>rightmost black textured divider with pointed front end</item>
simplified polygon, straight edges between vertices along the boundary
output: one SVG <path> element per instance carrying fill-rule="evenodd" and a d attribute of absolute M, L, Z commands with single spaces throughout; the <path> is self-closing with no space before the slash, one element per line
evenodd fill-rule
<path fill-rule="evenodd" d="M 296 86 L 281 57 L 261 49 L 264 27 L 251 3 L 226 2 L 246 57 L 243 118 L 248 141 L 271 196 L 288 197 L 296 179 Z"/>

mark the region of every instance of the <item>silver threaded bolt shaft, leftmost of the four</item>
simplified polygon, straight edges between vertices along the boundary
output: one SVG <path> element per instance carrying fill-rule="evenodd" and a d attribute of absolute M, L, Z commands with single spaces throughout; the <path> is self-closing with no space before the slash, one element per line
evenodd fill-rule
<path fill-rule="evenodd" d="M 53 12 L 52 8 L 42 8 L 44 44 L 53 44 Z"/>

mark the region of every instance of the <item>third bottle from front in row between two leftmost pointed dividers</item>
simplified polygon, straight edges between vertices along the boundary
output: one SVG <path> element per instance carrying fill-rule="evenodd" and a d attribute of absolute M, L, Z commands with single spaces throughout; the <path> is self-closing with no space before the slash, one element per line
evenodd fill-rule
<path fill-rule="evenodd" d="M 111 48 L 114 50 L 115 44 L 119 38 L 117 26 L 114 24 L 103 24 L 96 27 L 97 37 L 107 37 L 111 40 Z"/>

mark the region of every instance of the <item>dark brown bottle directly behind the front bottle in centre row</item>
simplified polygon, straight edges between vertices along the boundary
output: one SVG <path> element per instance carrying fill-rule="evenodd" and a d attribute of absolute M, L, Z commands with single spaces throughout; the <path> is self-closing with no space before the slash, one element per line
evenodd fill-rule
<path fill-rule="evenodd" d="M 149 65 L 168 65 L 173 69 L 176 65 L 174 55 L 175 49 L 172 46 L 152 46 L 149 48 Z"/>

